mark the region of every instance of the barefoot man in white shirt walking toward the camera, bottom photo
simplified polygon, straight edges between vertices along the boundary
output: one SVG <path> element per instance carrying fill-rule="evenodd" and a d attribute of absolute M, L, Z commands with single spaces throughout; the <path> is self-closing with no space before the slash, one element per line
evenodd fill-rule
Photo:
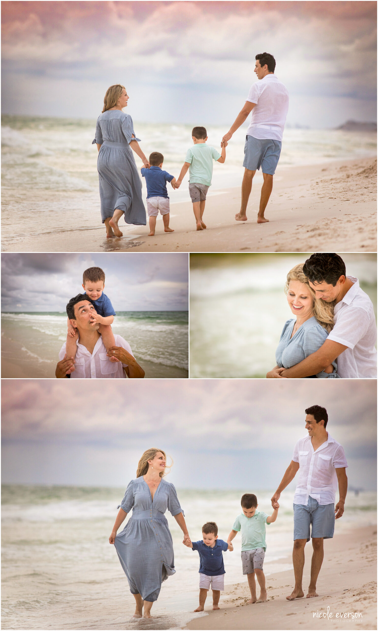
<path fill-rule="evenodd" d="M 277 504 L 281 492 L 299 471 L 299 480 L 294 495 L 294 548 L 293 565 L 295 587 L 287 600 L 303 598 L 302 575 L 304 546 L 312 538 L 311 578 L 306 598 L 318 596 L 316 581 L 323 563 L 323 540 L 331 539 L 335 529 L 335 518 L 343 516 L 348 479 L 345 473 L 348 463 L 343 447 L 334 440 L 326 425 L 328 414 L 325 408 L 313 405 L 306 410 L 306 430 L 309 435 L 298 440 L 292 461 L 272 497 L 272 506 Z M 335 506 L 336 489 L 339 501 Z M 336 514 L 336 517 L 335 517 Z"/>

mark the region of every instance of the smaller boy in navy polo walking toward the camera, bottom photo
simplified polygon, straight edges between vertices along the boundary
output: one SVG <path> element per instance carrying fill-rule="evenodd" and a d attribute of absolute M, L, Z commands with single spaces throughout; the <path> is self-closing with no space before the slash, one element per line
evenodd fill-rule
<path fill-rule="evenodd" d="M 224 590 L 224 569 L 222 552 L 232 552 L 231 543 L 218 539 L 218 526 L 214 521 L 208 521 L 202 526 L 202 541 L 192 541 L 189 548 L 198 550 L 200 555 L 200 604 L 194 611 L 203 611 L 207 592 L 212 589 L 213 610 L 219 609 L 218 603 L 221 591 Z"/>

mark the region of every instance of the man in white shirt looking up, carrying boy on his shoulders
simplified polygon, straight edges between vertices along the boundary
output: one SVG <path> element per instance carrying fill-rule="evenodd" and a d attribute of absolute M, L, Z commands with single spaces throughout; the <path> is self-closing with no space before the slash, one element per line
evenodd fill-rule
<path fill-rule="evenodd" d="M 76 379 L 142 379 L 144 370 L 136 362 L 129 343 L 120 335 L 115 335 L 116 346 L 109 350 L 119 362 L 110 362 L 102 336 L 98 333 L 100 324 L 95 322 L 96 313 L 90 300 L 83 299 L 83 294 L 71 298 L 67 304 L 67 315 L 77 331 L 75 358 L 67 358 L 66 343 L 59 352 L 59 362 L 55 370 L 57 379 L 67 377 Z"/>

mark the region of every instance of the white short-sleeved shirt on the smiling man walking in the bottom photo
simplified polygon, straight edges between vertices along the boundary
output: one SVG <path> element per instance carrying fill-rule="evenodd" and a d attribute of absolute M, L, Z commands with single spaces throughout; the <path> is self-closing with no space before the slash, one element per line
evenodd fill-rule
<path fill-rule="evenodd" d="M 301 438 L 294 447 L 293 458 L 299 463 L 299 476 L 294 504 L 307 506 L 309 495 L 321 506 L 335 504 L 338 487 L 335 469 L 347 468 L 343 447 L 328 432 L 328 439 L 316 451 L 311 436 Z"/>

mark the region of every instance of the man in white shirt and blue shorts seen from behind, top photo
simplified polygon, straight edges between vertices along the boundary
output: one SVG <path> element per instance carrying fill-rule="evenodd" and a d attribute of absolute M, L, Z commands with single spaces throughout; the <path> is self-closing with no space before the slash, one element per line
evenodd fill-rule
<path fill-rule="evenodd" d="M 255 73 L 258 81 L 248 93 L 246 103 L 239 112 L 229 132 L 223 136 L 228 142 L 232 134 L 252 112 L 244 146 L 244 177 L 241 185 L 241 209 L 235 215 L 236 221 L 246 221 L 246 210 L 256 170 L 263 172 L 260 209 L 257 223 L 269 221 L 264 216 L 266 204 L 273 188 L 273 175 L 281 153 L 282 134 L 289 109 L 289 92 L 282 81 L 275 76 L 275 58 L 268 52 L 256 55 Z"/>

